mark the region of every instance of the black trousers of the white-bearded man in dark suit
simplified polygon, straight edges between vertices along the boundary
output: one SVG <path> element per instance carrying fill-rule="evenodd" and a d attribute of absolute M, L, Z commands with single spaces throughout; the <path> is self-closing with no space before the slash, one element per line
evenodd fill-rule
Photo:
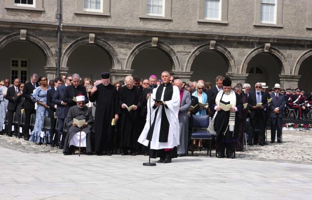
<path fill-rule="evenodd" d="M 249 139 L 248 142 L 250 144 L 253 143 L 257 144 L 258 141 L 260 144 L 263 144 L 265 142 L 265 136 L 264 136 L 264 117 L 262 111 L 256 111 L 254 114 L 254 118 L 250 121 L 250 126 L 252 127 L 249 131 Z M 257 133 L 256 133 L 257 132 Z"/>

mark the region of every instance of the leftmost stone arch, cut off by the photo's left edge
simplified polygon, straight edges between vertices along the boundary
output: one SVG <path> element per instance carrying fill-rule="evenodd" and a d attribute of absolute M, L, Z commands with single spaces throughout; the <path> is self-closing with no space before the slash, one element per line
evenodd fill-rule
<path fill-rule="evenodd" d="M 8 43 L 18 40 L 21 40 L 19 33 L 13 33 L 11 35 L 3 37 L 2 39 L 0 39 L 0 50 L 3 49 L 3 47 Z M 25 41 L 29 41 L 39 47 L 40 51 L 43 53 L 46 59 L 46 66 L 43 67 L 57 66 L 55 56 L 51 51 L 50 46 L 43 39 L 40 39 L 39 37 L 33 36 L 31 34 L 26 34 Z"/>

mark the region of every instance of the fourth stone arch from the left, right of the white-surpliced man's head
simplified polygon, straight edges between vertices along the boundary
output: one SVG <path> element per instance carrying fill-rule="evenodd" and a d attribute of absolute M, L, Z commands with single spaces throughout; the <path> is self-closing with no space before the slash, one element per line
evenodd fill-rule
<path fill-rule="evenodd" d="M 235 61 L 233 55 L 231 54 L 231 52 L 227 48 L 225 48 L 221 45 L 218 45 L 218 44 L 215 44 L 214 48 L 211 48 L 209 43 L 198 46 L 189 55 L 189 57 L 186 59 L 184 71 L 185 72 L 191 72 L 191 67 L 192 67 L 192 64 L 193 64 L 195 57 L 198 54 L 200 54 L 201 52 L 206 51 L 206 50 L 216 51 L 220 55 L 222 55 L 223 58 L 225 58 L 225 61 L 228 65 L 228 73 L 238 73 L 236 61 Z"/>

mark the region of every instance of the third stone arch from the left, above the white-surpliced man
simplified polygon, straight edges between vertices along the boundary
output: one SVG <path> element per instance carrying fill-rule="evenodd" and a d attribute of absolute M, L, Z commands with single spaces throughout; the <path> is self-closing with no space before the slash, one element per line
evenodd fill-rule
<path fill-rule="evenodd" d="M 128 55 L 128 57 L 126 59 L 125 70 L 131 70 L 131 65 L 132 65 L 132 62 L 133 62 L 134 58 L 136 57 L 136 55 L 142 49 L 145 49 L 145 48 L 148 48 L 148 47 L 154 47 L 154 46 L 152 46 L 152 40 L 141 42 L 137 46 L 135 46 L 135 48 L 133 48 L 131 50 L 130 54 Z M 176 52 L 171 48 L 170 45 L 168 45 L 165 42 L 158 41 L 156 48 L 158 48 L 159 50 L 163 51 L 166 55 L 168 55 L 172 59 L 172 61 L 173 61 L 172 62 L 172 65 L 173 65 L 172 66 L 172 71 L 178 71 L 178 72 L 182 71 L 179 58 L 176 55 Z"/>

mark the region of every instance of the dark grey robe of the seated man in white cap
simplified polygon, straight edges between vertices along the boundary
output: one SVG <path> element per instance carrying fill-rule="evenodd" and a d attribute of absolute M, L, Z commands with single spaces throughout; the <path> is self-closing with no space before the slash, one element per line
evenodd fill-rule
<path fill-rule="evenodd" d="M 65 141 L 64 141 L 64 150 L 63 153 L 71 154 L 71 150 L 69 147 L 69 142 L 74 137 L 74 135 L 78 132 L 80 132 L 79 127 L 74 127 L 73 122 L 74 118 L 78 120 L 85 120 L 88 123 L 88 126 L 83 127 L 81 131 L 86 133 L 86 153 L 92 153 L 92 146 L 91 146 L 91 130 L 93 126 L 93 116 L 91 109 L 89 109 L 87 106 L 84 106 L 82 109 L 78 108 L 78 106 L 73 106 L 68 110 L 68 114 L 66 117 L 65 123 L 67 124 L 68 133 L 66 135 Z"/>

